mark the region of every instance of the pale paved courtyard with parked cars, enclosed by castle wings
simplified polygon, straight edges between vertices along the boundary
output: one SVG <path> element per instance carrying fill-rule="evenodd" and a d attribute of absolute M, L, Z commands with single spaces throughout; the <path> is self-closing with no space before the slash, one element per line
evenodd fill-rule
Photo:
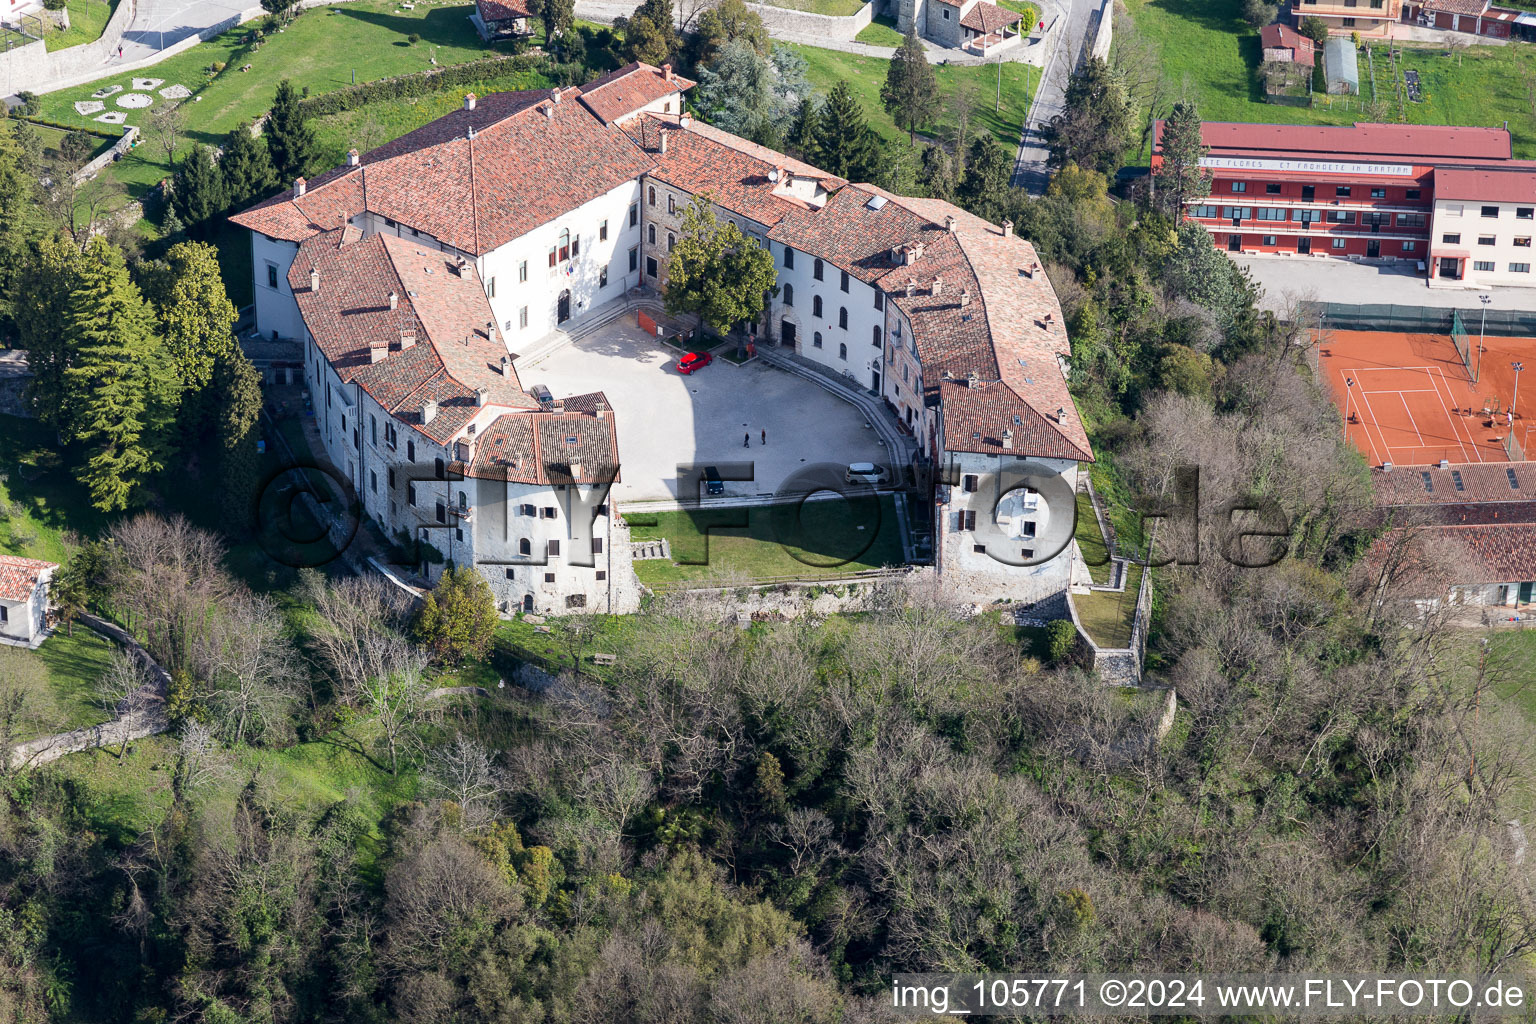
<path fill-rule="evenodd" d="M 619 422 L 621 502 L 676 499 L 679 462 L 719 465 L 725 476 L 728 464 L 748 462 L 753 479 L 727 479 L 725 493 L 753 497 L 817 462 L 891 464 L 863 413 L 811 381 L 760 359 L 740 367 L 716 359 L 682 376 L 679 355 L 628 315 L 516 370 L 525 388 L 608 396 Z"/>

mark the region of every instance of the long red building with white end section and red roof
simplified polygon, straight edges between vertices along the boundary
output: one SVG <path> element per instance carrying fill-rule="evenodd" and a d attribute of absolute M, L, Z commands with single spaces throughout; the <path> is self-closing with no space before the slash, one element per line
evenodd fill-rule
<path fill-rule="evenodd" d="M 1161 135 L 1160 123 L 1154 169 L 1163 163 Z M 1432 284 L 1530 282 L 1530 261 L 1510 270 L 1522 264 L 1510 252 L 1530 246 L 1530 233 L 1516 229 L 1536 206 L 1536 163 L 1510 158 L 1504 129 L 1206 123 L 1201 138 L 1209 147 L 1201 164 L 1215 180 L 1184 216 L 1227 252 L 1409 259 Z M 1485 204 L 1510 209 L 1487 215 Z M 1441 227 L 1470 206 L 1479 224 Z M 1482 238 L 1495 241 L 1475 252 Z"/>

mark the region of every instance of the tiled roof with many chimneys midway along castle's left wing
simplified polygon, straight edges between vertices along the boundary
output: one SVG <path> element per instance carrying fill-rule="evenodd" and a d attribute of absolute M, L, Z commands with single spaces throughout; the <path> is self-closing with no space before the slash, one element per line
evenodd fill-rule
<path fill-rule="evenodd" d="M 455 259 L 392 235 L 370 235 L 346 246 L 339 230 L 300 246 L 289 286 L 304 325 L 343 382 L 355 382 L 401 422 L 436 442 L 447 442 L 487 404 L 535 408 L 507 364 L 505 344 L 487 324 L 495 321 L 475 264 L 458 272 Z M 310 287 L 310 269 L 319 290 Z M 390 309 L 389 296 L 396 296 Z M 402 335 L 415 344 L 402 345 Z M 373 361 L 373 352 L 384 358 Z M 421 407 L 438 402 L 422 424 Z"/>

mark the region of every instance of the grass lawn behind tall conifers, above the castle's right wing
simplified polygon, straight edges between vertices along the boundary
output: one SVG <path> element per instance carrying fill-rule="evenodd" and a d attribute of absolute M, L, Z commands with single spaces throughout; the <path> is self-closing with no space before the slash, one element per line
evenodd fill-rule
<path fill-rule="evenodd" d="M 829 92 L 839 80 L 848 81 L 854 91 L 869 124 L 885 138 L 902 138 L 906 132 L 895 126 L 895 121 L 880 104 L 880 86 L 885 84 L 886 69 L 891 61 L 883 57 L 862 57 L 845 54 L 836 49 L 820 49 L 819 46 L 794 46 L 805 57 L 806 77 L 811 84 L 822 92 Z M 1023 130 L 1025 114 L 1035 94 L 1035 83 L 1040 69 L 1032 64 L 1003 61 L 1001 64 L 1001 103 L 998 103 L 998 68 L 997 64 L 949 64 L 934 68 L 938 77 L 938 120 L 928 126 L 929 135 L 946 135 L 955 126 L 955 111 L 969 104 L 974 130 L 988 130 L 997 137 L 1009 152 L 1018 146 L 1018 135 Z"/>

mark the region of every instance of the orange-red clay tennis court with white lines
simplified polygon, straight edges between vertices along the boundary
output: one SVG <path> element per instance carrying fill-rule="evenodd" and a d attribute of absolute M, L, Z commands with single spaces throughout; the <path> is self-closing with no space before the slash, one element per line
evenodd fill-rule
<path fill-rule="evenodd" d="M 1468 359 L 1476 370 L 1476 335 Z M 1514 393 L 1511 362 L 1533 372 L 1522 381 L 1524 398 Z M 1344 415 L 1346 436 L 1372 465 L 1507 462 L 1530 450 L 1527 434 L 1536 425 L 1533 338 L 1487 338 L 1481 381 L 1473 384 L 1450 335 L 1332 330 L 1319 345 L 1318 370 Z"/>

